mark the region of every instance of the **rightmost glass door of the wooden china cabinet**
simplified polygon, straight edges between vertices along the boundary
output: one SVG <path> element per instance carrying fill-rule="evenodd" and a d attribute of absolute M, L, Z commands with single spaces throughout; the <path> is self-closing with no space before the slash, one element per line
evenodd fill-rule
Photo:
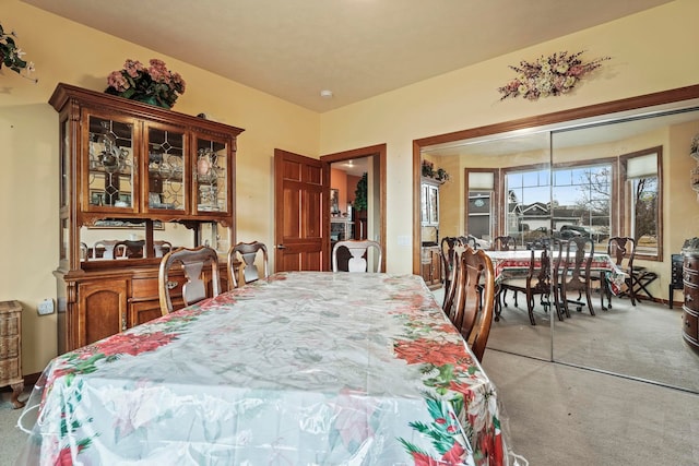
<path fill-rule="evenodd" d="M 229 212 L 228 145 L 206 139 L 196 140 L 194 212 Z"/>

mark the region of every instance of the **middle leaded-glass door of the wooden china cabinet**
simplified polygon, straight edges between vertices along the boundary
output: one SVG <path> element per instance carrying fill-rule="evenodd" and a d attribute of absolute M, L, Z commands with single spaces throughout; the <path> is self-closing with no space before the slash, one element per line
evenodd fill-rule
<path fill-rule="evenodd" d="M 145 211 L 185 211 L 187 208 L 187 183 L 189 167 L 185 163 L 185 133 L 179 129 L 146 127 L 147 177 L 144 177 L 147 193 Z"/>

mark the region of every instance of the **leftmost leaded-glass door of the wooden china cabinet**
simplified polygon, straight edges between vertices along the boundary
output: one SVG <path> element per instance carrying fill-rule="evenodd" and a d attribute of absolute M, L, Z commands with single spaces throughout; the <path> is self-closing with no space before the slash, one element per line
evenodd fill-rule
<path fill-rule="evenodd" d="M 133 210 L 133 123 L 91 115 L 88 124 L 88 210 Z"/>

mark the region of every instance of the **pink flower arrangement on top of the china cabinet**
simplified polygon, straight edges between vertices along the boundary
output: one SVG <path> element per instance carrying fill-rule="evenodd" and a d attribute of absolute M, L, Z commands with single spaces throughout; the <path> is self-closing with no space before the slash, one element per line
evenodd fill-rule
<path fill-rule="evenodd" d="M 145 101 L 170 108 L 177 97 L 185 93 L 185 80 L 165 67 L 163 60 L 152 59 L 150 67 L 138 60 L 127 60 L 123 69 L 107 76 L 107 94 L 132 100 Z"/>

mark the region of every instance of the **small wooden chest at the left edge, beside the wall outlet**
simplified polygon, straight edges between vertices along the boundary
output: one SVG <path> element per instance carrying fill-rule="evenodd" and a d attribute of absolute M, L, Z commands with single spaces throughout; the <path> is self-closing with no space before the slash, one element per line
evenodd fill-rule
<path fill-rule="evenodd" d="M 0 302 L 0 386 L 12 387 L 12 405 L 24 406 L 17 398 L 24 390 L 22 378 L 22 306 L 17 301 Z"/>

